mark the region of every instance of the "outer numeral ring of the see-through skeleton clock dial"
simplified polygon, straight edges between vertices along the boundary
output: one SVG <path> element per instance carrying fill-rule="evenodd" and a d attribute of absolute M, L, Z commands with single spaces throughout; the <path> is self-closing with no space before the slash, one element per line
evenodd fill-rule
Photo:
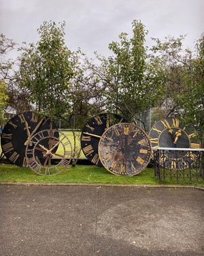
<path fill-rule="evenodd" d="M 55 137 L 54 135 L 50 135 L 51 133 L 54 134 L 54 132 L 57 132 L 58 136 Z M 40 135 L 39 135 L 40 134 Z M 44 136 L 43 134 L 48 134 L 46 136 Z M 39 139 L 36 139 L 35 137 L 39 137 Z M 44 137 L 43 137 L 44 136 Z M 41 137 L 41 138 L 40 138 Z M 63 139 L 66 139 L 67 141 L 66 142 L 63 142 L 63 139 L 61 139 L 61 137 L 63 137 Z M 35 155 L 35 150 L 37 150 L 37 147 L 39 147 L 39 143 L 40 141 L 43 141 L 43 140 L 47 140 L 47 139 L 56 139 L 56 141 L 59 141 L 59 144 L 61 143 L 62 146 L 63 146 L 63 158 L 61 158 L 61 160 L 56 164 L 56 165 L 52 165 L 51 167 L 42 167 L 42 164 L 40 164 L 37 159 L 36 159 L 36 155 Z M 28 162 L 28 166 L 29 168 L 31 168 L 32 171 L 34 171 L 35 173 L 37 173 L 38 175 L 58 175 L 59 173 L 62 173 L 71 163 L 71 159 L 72 159 L 72 155 L 73 155 L 73 149 L 72 149 L 72 145 L 71 145 L 71 141 L 69 140 L 69 138 L 67 137 L 66 134 L 64 134 L 63 132 L 57 130 L 57 129 L 46 129 L 46 130 L 41 130 L 39 132 L 37 132 L 36 134 L 33 135 L 33 137 L 31 137 L 30 139 L 31 142 L 33 142 L 33 149 L 31 149 L 31 146 L 29 146 L 29 143 L 27 144 L 27 148 L 26 148 L 26 159 L 27 159 L 27 162 Z M 34 144 L 34 142 L 36 144 Z M 44 143 L 45 144 L 45 143 Z M 44 145 L 43 144 L 43 145 Z M 70 146 L 70 155 L 68 155 L 68 151 L 66 150 L 65 148 L 65 145 L 68 145 Z M 54 145 L 53 145 L 54 147 Z M 58 147 L 58 146 L 57 146 Z M 54 153 L 56 153 L 56 150 L 54 150 Z M 29 157 L 28 155 L 31 155 L 31 157 Z M 65 156 L 69 156 L 69 160 L 66 160 L 67 158 L 65 158 Z M 43 173 L 40 173 L 39 171 L 41 169 L 39 169 L 39 171 L 36 171 L 35 169 L 33 169 L 33 165 L 30 165 L 29 164 L 29 159 L 31 158 L 34 158 L 35 161 L 33 161 L 32 163 L 34 163 L 34 166 L 37 165 L 37 167 L 42 167 L 42 169 L 47 169 L 48 170 L 48 173 L 50 173 L 50 171 L 52 171 L 53 169 L 57 169 L 58 167 L 62 166 L 63 168 L 61 169 L 61 171 L 58 171 L 57 173 L 53 173 L 53 174 L 43 174 Z M 63 164 L 63 165 L 62 165 Z M 66 164 L 66 165 L 65 165 Z M 47 173 L 47 171 L 46 171 Z"/>

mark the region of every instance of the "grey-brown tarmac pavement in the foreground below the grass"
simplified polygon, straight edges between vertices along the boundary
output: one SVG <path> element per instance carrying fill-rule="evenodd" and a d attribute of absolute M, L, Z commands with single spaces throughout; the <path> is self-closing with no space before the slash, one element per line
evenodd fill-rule
<path fill-rule="evenodd" d="M 204 191 L 0 185 L 1 256 L 201 256 Z"/>

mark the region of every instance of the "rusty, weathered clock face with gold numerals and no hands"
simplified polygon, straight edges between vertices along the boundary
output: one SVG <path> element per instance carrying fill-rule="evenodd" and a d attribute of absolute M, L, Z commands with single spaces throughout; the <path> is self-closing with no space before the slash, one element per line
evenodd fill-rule
<path fill-rule="evenodd" d="M 115 124 L 99 142 L 99 158 L 115 175 L 136 175 L 150 162 L 151 143 L 148 135 L 135 124 Z"/>

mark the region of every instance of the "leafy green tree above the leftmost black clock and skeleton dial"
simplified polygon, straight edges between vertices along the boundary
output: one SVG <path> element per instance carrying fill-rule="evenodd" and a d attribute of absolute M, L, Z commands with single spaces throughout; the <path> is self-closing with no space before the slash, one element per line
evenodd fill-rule
<path fill-rule="evenodd" d="M 65 46 L 65 22 L 44 22 L 38 29 L 39 42 L 21 48 L 20 80 L 30 91 L 36 109 L 52 121 L 69 105 L 69 80 L 73 77 L 75 56 Z"/>

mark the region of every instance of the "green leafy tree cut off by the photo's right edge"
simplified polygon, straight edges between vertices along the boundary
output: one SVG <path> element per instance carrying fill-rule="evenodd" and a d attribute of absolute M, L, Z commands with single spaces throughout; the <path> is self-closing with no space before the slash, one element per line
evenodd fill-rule
<path fill-rule="evenodd" d="M 186 90 L 179 98 L 179 106 L 185 122 L 196 128 L 204 148 L 204 33 L 197 41 L 194 56 L 188 59 L 188 66 L 190 70 L 184 77 Z"/>

